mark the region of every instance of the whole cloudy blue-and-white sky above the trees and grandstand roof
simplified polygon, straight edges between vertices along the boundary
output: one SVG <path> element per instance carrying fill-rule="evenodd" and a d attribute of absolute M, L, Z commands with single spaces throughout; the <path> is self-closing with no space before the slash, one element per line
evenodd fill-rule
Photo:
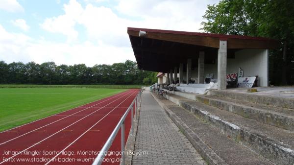
<path fill-rule="evenodd" d="M 135 61 L 127 27 L 201 32 L 219 0 L 0 0 L 0 61 Z"/>

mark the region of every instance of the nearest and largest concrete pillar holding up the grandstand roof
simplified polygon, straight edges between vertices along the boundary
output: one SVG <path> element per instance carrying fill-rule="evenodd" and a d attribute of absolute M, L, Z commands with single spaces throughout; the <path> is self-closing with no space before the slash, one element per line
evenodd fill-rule
<path fill-rule="evenodd" d="M 226 89 L 227 41 L 220 40 L 218 50 L 218 89 Z"/>

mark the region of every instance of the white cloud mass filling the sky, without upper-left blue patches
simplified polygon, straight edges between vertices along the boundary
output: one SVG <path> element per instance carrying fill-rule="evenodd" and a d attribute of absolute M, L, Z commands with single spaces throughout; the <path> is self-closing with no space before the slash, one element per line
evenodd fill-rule
<path fill-rule="evenodd" d="M 206 4 L 218 0 L 120 0 L 111 8 L 88 1 L 82 6 L 70 0 L 63 14 L 40 24 L 49 33 L 67 36 L 64 43 L 8 33 L 0 26 L 0 60 L 87 66 L 135 60 L 127 27 L 199 31 Z M 85 29 L 83 41 L 78 41 L 84 33 L 77 25 Z"/>

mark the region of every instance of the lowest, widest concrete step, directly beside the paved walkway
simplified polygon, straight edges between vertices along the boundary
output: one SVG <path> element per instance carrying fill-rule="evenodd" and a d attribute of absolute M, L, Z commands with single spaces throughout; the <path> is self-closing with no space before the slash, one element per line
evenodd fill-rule
<path fill-rule="evenodd" d="M 274 165 L 172 101 L 154 97 L 209 165 Z"/>

